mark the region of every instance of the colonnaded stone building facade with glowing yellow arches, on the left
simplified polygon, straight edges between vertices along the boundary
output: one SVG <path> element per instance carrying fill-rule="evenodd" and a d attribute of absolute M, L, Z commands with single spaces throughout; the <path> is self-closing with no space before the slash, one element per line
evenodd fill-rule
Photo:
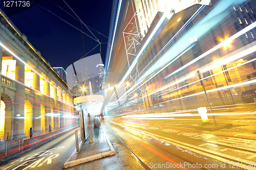
<path fill-rule="evenodd" d="M 7 140 L 74 123 L 67 83 L 0 11 L 0 137 Z"/>

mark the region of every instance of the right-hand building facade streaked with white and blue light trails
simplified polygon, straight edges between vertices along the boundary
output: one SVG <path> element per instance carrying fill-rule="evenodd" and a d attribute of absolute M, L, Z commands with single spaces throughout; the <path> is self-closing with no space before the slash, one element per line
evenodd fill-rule
<path fill-rule="evenodd" d="M 209 107 L 203 86 L 212 107 L 245 103 L 242 93 L 255 89 L 256 85 L 255 3 L 195 3 L 179 12 L 175 10 L 171 17 L 172 11 L 158 11 L 153 20 L 147 15 L 139 16 L 139 12 L 144 15 L 142 5 L 133 10 L 136 4 L 145 8 L 145 3 L 148 1 L 127 1 L 123 4 L 127 12 L 119 14 L 117 28 L 131 30 L 136 26 L 135 21 L 141 19 L 147 19 L 150 25 L 143 36 L 145 27 L 137 29 L 141 30 L 141 36 L 132 52 L 126 49 L 132 43 L 130 39 L 136 39 L 135 35 L 127 36 L 130 39 L 125 39 L 123 31 L 113 35 L 112 48 L 118 51 L 110 52 L 106 71 L 120 73 L 120 84 L 127 86 L 118 83 L 114 86 L 113 78 L 106 78 L 105 89 L 112 88 L 109 96 L 117 97 L 105 99 L 105 106 L 118 110 L 108 103 L 117 105 L 127 97 L 130 100 L 120 105 L 119 110 L 142 108 L 145 113 L 154 113 Z M 133 61 L 129 62 L 131 58 Z M 203 86 L 198 71 L 203 75 Z M 123 89 L 126 92 L 121 94 Z M 136 100 L 135 94 L 139 96 Z"/>

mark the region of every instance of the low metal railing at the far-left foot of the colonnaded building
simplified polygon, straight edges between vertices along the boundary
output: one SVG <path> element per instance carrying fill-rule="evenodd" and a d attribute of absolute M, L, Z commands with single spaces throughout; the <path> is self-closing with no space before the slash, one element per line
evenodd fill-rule
<path fill-rule="evenodd" d="M 7 157 L 15 152 L 23 150 L 23 139 L 14 139 L 0 143 L 0 158 Z"/>

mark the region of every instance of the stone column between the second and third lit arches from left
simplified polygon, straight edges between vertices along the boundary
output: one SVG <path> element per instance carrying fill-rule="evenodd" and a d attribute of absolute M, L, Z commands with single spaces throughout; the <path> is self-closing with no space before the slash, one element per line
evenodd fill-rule
<path fill-rule="evenodd" d="M 36 74 L 36 72 L 33 72 L 33 88 L 35 89 L 35 98 L 33 102 L 33 130 L 36 132 L 41 131 L 41 97 L 40 93 L 37 91 L 40 91 L 40 80 L 39 80 L 39 75 Z M 37 91 L 36 91 L 37 90 Z M 43 115 L 42 115 L 43 116 Z M 40 117 L 40 118 L 36 118 Z M 45 130 L 45 127 L 44 127 Z"/>

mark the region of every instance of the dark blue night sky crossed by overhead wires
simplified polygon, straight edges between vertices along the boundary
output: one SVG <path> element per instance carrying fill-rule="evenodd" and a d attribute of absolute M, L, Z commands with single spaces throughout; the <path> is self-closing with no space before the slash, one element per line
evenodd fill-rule
<path fill-rule="evenodd" d="M 39 5 L 81 30 L 81 23 L 78 20 L 61 10 L 52 2 L 76 17 L 65 2 L 60 0 L 42 0 L 39 2 Z M 101 58 L 102 62 L 105 63 L 108 42 L 108 38 L 106 37 L 109 37 L 113 1 L 66 0 L 66 2 L 87 26 L 97 31 L 89 28 L 97 39 L 103 43 L 101 44 Z M 3 3 L 0 4 L 0 8 L 5 12 Z M 66 69 L 70 64 L 83 57 L 82 33 L 47 10 L 36 5 L 29 10 L 11 15 L 9 18 L 17 29 L 28 37 L 28 41 L 41 53 L 42 57 L 51 63 L 52 67 L 60 66 Z M 94 38 L 84 25 L 82 29 L 83 32 Z M 83 39 L 86 54 L 99 44 L 84 34 Z M 87 56 L 99 52 L 100 47 L 97 46 Z"/>

